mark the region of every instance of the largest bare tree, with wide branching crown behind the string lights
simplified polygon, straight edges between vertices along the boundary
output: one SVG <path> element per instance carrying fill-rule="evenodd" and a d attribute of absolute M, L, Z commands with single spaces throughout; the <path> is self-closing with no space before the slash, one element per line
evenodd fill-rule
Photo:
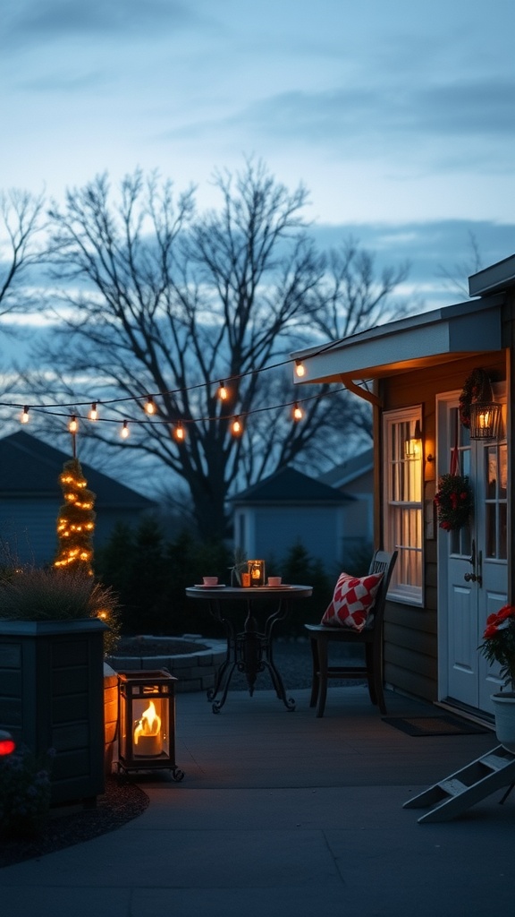
<path fill-rule="evenodd" d="M 128 422 L 125 447 L 186 482 L 204 537 L 225 534 L 236 486 L 300 456 L 327 455 L 336 427 L 353 414 L 347 392 L 323 397 L 329 386 L 303 403 L 301 424 L 284 410 L 293 342 L 330 327 L 326 262 L 302 217 L 306 190 L 290 193 L 252 161 L 214 181 L 222 206 L 203 215 L 194 213 L 192 190 L 176 203 L 170 182 L 140 171 L 126 177 L 117 203 L 101 176 L 52 209 L 49 256 L 66 347 L 57 339 L 50 348 L 59 375 L 53 386 L 45 380 L 47 392 L 68 392 L 74 413 L 87 397 L 105 419 Z M 367 316 L 360 308 L 357 324 Z M 148 396 L 150 417 L 135 406 Z M 236 417 L 243 436 L 232 433 Z M 181 442 L 170 435 L 178 426 Z M 111 424 L 95 425 L 95 435 L 118 440 Z"/>

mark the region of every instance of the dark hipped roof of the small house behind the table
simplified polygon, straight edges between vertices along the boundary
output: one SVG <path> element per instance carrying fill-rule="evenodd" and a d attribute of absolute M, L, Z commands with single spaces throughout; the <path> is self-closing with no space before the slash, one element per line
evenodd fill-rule
<path fill-rule="evenodd" d="M 235 505 L 246 503 L 348 503 L 356 498 L 316 481 L 294 468 L 276 471 L 232 498 Z"/>

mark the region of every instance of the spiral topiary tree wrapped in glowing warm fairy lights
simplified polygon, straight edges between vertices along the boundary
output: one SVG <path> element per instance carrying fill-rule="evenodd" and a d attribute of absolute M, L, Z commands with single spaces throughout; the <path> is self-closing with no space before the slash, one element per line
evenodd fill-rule
<path fill-rule="evenodd" d="M 54 567 L 82 570 L 93 576 L 95 494 L 87 489 L 78 458 L 64 463 L 59 481 L 65 502 L 57 521 L 58 551 Z"/>

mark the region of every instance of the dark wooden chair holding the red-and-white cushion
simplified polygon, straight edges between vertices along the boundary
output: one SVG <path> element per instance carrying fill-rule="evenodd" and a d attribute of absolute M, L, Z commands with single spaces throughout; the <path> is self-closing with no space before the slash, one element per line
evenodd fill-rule
<path fill-rule="evenodd" d="M 383 573 L 384 576 L 372 610 L 373 621 L 362 631 L 342 626 L 328 627 L 325 624 L 304 624 L 310 636 L 312 648 L 312 695 L 310 707 L 314 707 L 318 701 L 317 716 L 323 716 L 328 679 L 359 679 L 364 676 L 367 678 L 371 702 L 378 705 L 381 713 L 385 714 L 387 712 L 383 693 L 383 618 L 389 580 L 395 567 L 397 554 L 397 551 L 393 551 L 391 554 L 386 551 L 376 551 L 371 560 L 368 573 Z M 330 643 L 364 646 L 365 665 L 330 666 L 328 664 L 328 646 Z"/>

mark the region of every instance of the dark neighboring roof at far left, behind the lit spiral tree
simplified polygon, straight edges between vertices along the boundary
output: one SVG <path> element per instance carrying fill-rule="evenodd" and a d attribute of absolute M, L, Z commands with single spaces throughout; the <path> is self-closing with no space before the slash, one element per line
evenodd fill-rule
<path fill-rule="evenodd" d="M 59 476 L 71 456 L 19 430 L 0 439 L 0 497 L 54 496 Z M 155 507 L 141 493 L 82 464 L 88 488 L 104 507 L 145 510 Z"/>

